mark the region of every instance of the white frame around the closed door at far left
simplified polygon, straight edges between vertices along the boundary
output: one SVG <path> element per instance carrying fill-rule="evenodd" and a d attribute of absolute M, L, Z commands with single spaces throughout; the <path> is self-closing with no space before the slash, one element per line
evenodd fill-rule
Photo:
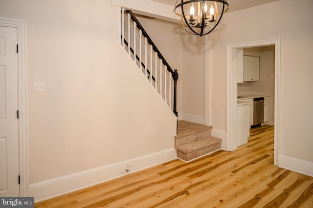
<path fill-rule="evenodd" d="M 18 135 L 20 196 L 26 197 L 29 196 L 27 21 L 0 17 L 0 26 L 17 28 L 18 32 Z"/>

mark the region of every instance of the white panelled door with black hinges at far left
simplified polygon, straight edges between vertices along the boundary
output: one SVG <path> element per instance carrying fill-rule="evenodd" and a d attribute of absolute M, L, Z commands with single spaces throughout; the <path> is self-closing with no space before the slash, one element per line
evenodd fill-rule
<path fill-rule="evenodd" d="M 20 196 L 17 28 L 0 26 L 0 196 Z"/>

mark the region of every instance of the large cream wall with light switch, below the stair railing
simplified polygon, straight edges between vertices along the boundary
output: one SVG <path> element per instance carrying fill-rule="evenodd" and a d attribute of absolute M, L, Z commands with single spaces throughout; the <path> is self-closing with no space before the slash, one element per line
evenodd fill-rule
<path fill-rule="evenodd" d="M 176 157 L 176 118 L 118 46 L 119 14 L 103 0 L 1 0 L 1 17 L 28 21 L 29 170 L 35 200 L 80 188 L 61 183 L 54 192 L 45 189 L 82 171 L 146 155 L 151 160 L 145 167 Z M 34 81 L 44 81 L 45 92 L 33 92 Z M 171 153 L 162 157 L 167 150 Z M 88 174 L 80 186 L 108 179 L 93 181 Z"/>

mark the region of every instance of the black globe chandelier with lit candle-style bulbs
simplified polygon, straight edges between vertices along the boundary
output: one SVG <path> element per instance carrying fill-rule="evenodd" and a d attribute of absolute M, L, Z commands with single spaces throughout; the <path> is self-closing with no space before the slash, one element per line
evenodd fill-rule
<path fill-rule="evenodd" d="M 183 30 L 201 37 L 216 31 L 228 10 L 226 0 L 177 0 L 174 14 Z"/>

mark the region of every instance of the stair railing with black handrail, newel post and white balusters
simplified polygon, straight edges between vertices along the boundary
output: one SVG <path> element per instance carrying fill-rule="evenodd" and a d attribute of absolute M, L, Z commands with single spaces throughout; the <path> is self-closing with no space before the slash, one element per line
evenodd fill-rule
<path fill-rule="evenodd" d="M 138 69 L 148 78 L 157 93 L 176 116 L 177 70 L 172 70 L 138 19 L 130 10 L 121 10 L 121 45 L 134 60 Z M 168 78 L 167 78 L 168 77 Z M 171 77 L 173 80 L 171 80 Z M 172 85 L 174 89 L 172 92 Z M 173 106 L 172 106 L 173 99 Z"/>

